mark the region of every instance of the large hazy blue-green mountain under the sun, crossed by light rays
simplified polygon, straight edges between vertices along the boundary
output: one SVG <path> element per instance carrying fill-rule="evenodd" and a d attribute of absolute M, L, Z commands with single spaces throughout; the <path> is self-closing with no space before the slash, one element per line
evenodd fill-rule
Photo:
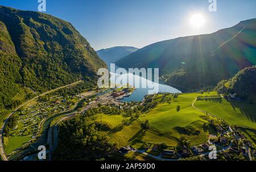
<path fill-rule="evenodd" d="M 159 68 L 168 85 L 212 88 L 256 64 L 256 19 L 207 35 L 160 41 L 119 59 L 123 68 Z"/>

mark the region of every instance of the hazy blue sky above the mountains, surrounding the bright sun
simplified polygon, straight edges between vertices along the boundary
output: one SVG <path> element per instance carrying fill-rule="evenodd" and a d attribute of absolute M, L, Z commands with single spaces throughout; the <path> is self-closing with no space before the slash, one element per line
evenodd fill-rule
<path fill-rule="evenodd" d="M 46 0 L 47 14 L 68 20 L 96 50 L 128 45 L 142 48 L 179 36 L 211 33 L 256 18 L 255 0 Z M 0 0 L 0 5 L 38 10 L 38 0 Z M 203 13 L 207 23 L 196 30 L 189 18 Z"/>

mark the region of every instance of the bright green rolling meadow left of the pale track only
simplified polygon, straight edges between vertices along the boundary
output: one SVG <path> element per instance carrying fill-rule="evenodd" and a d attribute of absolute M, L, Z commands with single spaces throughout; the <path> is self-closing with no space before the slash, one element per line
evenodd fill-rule
<path fill-rule="evenodd" d="M 142 114 L 138 119 L 138 121 L 149 120 L 150 129 L 146 131 L 141 128 L 138 121 L 134 121 L 113 133 L 112 138 L 120 146 L 131 144 L 135 147 L 141 146 L 141 143 L 136 142 L 136 140 L 151 144 L 165 142 L 168 146 L 176 146 L 177 140 L 181 136 L 190 140 L 192 145 L 207 142 L 209 131 L 204 131 L 203 123 L 207 123 L 208 117 L 191 106 L 197 95 L 201 94 L 183 94 L 172 99 L 171 103 L 159 103 L 153 110 L 147 114 Z M 161 99 L 162 95 L 154 98 L 155 101 L 159 102 Z M 177 105 L 181 107 L 179 112 L 176 111 Z M 121 115 L 102 114 L 102 122 L 111 124 L 113 127 L 121 124 L 122 119 Z M 97 121 L 100 121 L 100 115 L 97 116 Z"/>

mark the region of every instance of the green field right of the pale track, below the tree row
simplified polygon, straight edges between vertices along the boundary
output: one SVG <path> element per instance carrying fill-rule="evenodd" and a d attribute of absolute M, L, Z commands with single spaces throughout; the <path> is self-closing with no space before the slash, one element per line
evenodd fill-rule
<path fill-rule="evenodd" d="M 218 101 L 199 100 L 195 106 L 224 119 L 230 125 L 256 129 L 256 105 L 254 104 L 221 99 Z"/>

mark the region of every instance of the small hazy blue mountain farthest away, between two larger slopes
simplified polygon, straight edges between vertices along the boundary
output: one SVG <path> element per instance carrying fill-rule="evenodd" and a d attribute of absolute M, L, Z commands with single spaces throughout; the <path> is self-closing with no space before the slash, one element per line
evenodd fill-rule
<path fill-rule="evenodd" d="M 107 64 L 110 64 L 110 63 L 117 61 L 120 58 L 125 57 L 125 56 L 129 55 L 130 53 L 133 53 L 137 50 L 138 50 L 138 48 L 135 48 L 135 47 L 126 47 L 126 46 L 112 47 L 112 48 L 101 49 L 101 50 L 97 51 L 97 54 Z"/>

